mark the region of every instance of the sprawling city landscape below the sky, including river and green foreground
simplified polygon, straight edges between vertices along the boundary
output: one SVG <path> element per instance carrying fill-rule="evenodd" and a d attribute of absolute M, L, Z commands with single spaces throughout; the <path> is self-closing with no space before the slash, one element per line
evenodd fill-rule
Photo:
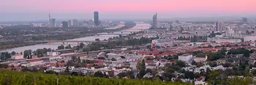
<path fill-rule="evenodd" d="M 55 23 L 49 15 L 48 23 L 1 23 L 0 83 L 256 84 L 253 20 L 157 21 L 156 14 L 151 22 L 112 22 L 98 15 L 83 22 Z M 26 46 L 33 49 L 12 51 Z"/>

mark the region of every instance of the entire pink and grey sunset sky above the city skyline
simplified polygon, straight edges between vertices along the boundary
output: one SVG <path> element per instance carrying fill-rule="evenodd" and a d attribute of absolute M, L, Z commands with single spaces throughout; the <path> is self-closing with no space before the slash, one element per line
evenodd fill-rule
<path fill-rule="evenodd" d="M 256 0 L 2 0 L 0 20 L 255 16 Z"/>

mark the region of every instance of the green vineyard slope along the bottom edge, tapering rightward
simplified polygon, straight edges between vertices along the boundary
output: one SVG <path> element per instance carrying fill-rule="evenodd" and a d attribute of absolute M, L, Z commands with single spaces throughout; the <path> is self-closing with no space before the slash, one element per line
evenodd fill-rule
<path fill-rule="evenodd" d="M 59 81 L 58 81 L 59 80 Z M 180 82 L 57 76 L 0 70 L 0 85 L 190 85 Z M 192 85 L 192 84 L 191 84 Z"/>

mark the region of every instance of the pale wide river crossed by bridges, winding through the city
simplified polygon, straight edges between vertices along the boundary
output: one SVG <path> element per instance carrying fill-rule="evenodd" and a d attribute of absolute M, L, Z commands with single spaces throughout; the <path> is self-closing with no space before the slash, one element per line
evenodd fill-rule
<path fill-rule="evenodd" d="M 127 30 L 123 30 L 123 31 L 116 31 L 113 33 L 123 33 L 125 35 L 129 34 L 129 33 L 134 33 L 134 32 L 138 32 L 138 31 L 142 31 L 142 30 L 146 30 L 148 28 L 151 28 L 151 25 L 148 23 L 143 23 L 143 22 L 135 22 L 136 25 L 133 28 L 129 28 Z M 118 25 L 120 27 L 120 25 Z M 78 38 L 78 39 L 70 39 L 67 41 L 95 41 L 95 39 L 99 39 L 99 40 L 104 40 L 104 39 L 109 39 L 109 38 L 113 38 L 116 37 L 118 35 L 95 35 L 95 36 L 86 36 L 83 38 Z M 43 49 L 43 48 L 50 48 L 50 49 L 57 49 L 58 46 L 60 45 L 64 45 L 67 46 L 68 44 L 70 44 L 71 46 L 77 46 L 78 43 L 62 43 L 62 42 L 56 42 L 56 43 L 51 43 L 51 44 L 36 44 L 36 45 L 31 45 L 31 46 L 20 46 L 20 47 L 16 47 L 16 48 L 12 48 L 12 49 L 4 49 L 1 50 L 0 52 L 23 52 L 24 50 L 28 50 L 31 49 L 32 51 L 37 50 L 37 49 Z"/>

